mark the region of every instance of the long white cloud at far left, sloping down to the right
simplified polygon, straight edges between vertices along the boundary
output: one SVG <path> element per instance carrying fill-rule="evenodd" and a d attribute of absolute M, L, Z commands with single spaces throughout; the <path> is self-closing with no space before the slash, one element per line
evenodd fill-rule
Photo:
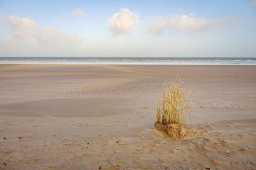
<path fill-rule="evenodd" d="M 75 45 L 83 42 L 79 35 L 68 35 L 55 28 L 41 28 L 31 18 L 9 16 L 7 23 L 11 26 L 12 38 L 34 38 L 41 45 Z"/>

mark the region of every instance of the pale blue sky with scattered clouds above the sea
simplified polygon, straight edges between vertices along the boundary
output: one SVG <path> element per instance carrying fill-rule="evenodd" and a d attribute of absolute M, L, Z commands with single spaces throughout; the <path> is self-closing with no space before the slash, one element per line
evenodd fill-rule
<path fill-rule="evenodd" d="M 0 0 L 0 57 L 256 57 L 256 0 Z"/>

